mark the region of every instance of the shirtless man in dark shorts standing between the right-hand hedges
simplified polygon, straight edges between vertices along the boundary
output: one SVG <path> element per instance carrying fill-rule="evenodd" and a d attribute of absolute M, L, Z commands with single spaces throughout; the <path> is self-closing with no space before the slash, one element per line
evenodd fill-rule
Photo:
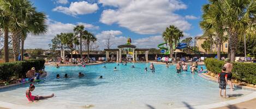
<path fill-rule="evenodd" d="M 233 84 L 232 84 L 232 81 L 231 81 L 231 78 L 232 78 L 232 72 L 231 71 L 233 69 L 233 64 L 230 63 L 229 58 L 225 59 L 224 67 L 226 68 L 225 73 L 227 73 L 227 75 L 228 75 L 228 85 L 229 85 L 231 91 L 233 91 Z"/>

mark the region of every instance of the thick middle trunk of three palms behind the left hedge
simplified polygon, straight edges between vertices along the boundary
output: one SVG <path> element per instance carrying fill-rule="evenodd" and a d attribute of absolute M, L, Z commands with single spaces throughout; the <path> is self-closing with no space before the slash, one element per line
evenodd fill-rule
<path fill-rule="evenodd" d="M 20 50 L 20 35 L 19 31 L 15 31 L 13 33 L 13 54 L 14 54 L 14 61 L 18 60 L 19 57 L 19 50 Z"/>

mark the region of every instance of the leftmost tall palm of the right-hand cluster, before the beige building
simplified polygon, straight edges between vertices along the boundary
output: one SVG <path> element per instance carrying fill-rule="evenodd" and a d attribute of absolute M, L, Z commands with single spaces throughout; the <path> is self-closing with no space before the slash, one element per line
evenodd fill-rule
<path fill-rule="evenodd" d="M 215 0 L 210 1 L 210 4 L 203 6 L 203 21 L 200 22 L 200 27 L 205 33 L 212 35 L 214 34 L 215 41 L 217 43 L 217 57 L 221 60 L 221 45 L 224 41 L 224 29 L 223 19 L 221 14 L 223 13 L 222 2 Z"/>

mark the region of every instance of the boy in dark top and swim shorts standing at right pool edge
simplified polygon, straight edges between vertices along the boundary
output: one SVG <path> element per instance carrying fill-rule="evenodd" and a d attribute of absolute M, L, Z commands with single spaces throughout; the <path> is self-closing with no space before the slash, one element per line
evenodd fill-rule
<path fill-rule="evenodd" d="M 221 97 L 226 98 L 226 86 L 228 82 L 228 75 L 225 73 L 226 68 L 222 67 L 222 72 L 218 74 L 218 83 L 219 83 L 219 95 Z M 224 92 L 224 95 L 222 96 L 222 90 Z"/>

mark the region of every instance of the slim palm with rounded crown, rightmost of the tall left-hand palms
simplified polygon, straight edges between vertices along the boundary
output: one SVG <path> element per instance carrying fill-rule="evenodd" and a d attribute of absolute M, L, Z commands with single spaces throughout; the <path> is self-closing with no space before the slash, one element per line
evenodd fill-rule
<path fill-rule="evenodd" d="M 25 21 L 26 27 L 22 29 L 21 35 L 21 61 L 23 61 L 23 51 L 24 51 L 24 42 L 27 37 L 27 33 L 33 35 L 45 34 L 47 31 L 47 25 L 45 24 L 46 15 L 43 12 L 34 12 L 31 13 L 33 17 L 27 18 Z"/>

